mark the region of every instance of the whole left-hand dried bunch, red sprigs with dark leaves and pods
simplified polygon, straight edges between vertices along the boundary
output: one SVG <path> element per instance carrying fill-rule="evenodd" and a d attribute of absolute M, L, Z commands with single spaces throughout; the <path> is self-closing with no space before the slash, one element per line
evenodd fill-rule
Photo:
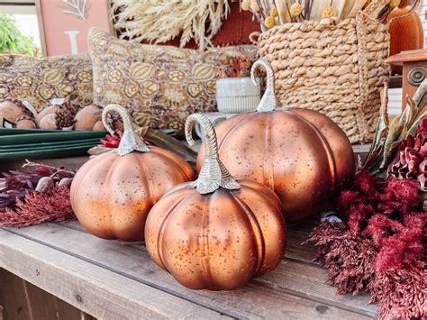
<path fill-rule="evenodd" d="M 69 202 L 73 171 L 26 161 L 0 178 L 0 225 L 17 228 L 75 219 Z"/>

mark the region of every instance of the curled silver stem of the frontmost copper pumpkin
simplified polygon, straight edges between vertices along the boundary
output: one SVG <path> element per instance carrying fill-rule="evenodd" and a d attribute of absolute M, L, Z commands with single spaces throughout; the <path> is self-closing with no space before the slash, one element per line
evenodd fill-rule
<path fill-rule="evenodd" d="M 218 158 L 218 144 L 213 124 L 203 114 L 191 114 L 186 118 L 186 141 L 188 144 L 195 144 L 192 136 L 195 123 L 199 123 L 202 129 L 206 156 L 199 177 L 190 182 L 189 187 L 196 187 L 197 191 L 202 195 L 211 193 L 219 187 L 229 190 L 240 189 L 241 185 L 235 178 L 232 178 L 230 172 Z"/>

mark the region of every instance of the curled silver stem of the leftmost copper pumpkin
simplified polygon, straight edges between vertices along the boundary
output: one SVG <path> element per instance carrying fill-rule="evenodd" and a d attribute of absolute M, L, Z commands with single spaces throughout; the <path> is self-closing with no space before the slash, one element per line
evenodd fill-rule
<path fill-rule="evenodd" d="M 110 134 L 114 134 L 113 128 L 110 127 L 110 124 L 107 121 L 107 114 L 112 111 L 119 114 L 123 120 L 123 136 L 120 141 L 119 148 L 117 149 L 119 155 L 124 156 L 128 153 L 131 153 L 132 151 L 150 151 L 149 147 L 147 147 L 147 145 L 142 141 L 140 135 L 135 133 L 131 116 L 122 105 L 107 105 L 104 107 L 102 120 L 105 129 L 108 130 Z"/>

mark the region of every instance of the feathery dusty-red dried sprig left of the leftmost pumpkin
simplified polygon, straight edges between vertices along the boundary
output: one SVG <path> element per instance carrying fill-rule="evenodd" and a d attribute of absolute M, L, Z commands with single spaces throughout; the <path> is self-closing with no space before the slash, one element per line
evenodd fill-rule
<path fill-rule="evenodd" d="M 0 224 L 21 228 L 68 219 L 76 219 L 69 201 L 69 189 L 57 185 L 46 194 L 26 190 L 24 199 L 17 199 L 14 209 L 6 208 L 0 215 Z"/>

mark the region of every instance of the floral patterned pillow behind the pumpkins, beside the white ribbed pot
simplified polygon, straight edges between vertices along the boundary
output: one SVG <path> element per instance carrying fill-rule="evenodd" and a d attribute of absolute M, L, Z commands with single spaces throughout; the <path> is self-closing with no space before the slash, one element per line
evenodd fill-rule
<path fill-rule="evenodd" d="M 183 133 L 189 114 L 216 111 L 218 66 L 229 56 L 255 59 L 255 46 L 241 45 L 203 53 L 171 46 L 118 40 L 89 31 L 94 68 L 94 103 L 123 105 L 134 121 Z"/>

